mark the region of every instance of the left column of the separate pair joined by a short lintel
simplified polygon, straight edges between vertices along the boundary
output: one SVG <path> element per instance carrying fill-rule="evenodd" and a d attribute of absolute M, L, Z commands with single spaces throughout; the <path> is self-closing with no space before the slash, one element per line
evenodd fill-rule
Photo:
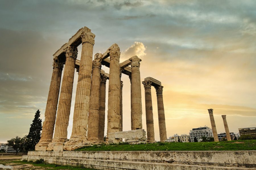
<path fill-rule="evenodd" d="M 152 96 L 151 96 L 151 81 L 143 81 L 145 89 L 145 107 L 146 107 L 146 125 L 147 125 L 147 141 L 149 143 L 155 142 L 154 133 L 154 119 L 153 119 L 153 109 L 152 109 Z"/>

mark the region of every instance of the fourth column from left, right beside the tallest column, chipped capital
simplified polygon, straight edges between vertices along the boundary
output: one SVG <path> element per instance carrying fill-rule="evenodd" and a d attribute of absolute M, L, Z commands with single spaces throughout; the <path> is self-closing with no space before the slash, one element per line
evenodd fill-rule
<path fill-rule="evenodd" d="M 92 61 L 92 83 L 90 109 L 88 115 L 88 140 L 99 141 L 99 110 L 100 110 L 100 69 L 102 54 L 96 53 Z"/>

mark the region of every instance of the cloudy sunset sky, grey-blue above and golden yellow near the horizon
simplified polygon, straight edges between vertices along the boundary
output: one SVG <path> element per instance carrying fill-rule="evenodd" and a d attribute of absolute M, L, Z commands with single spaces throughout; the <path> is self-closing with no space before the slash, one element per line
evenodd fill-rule
<path fill-rule="evenodd" d="M 38 109 L 44 120 L 52 55 L 84 26 L 96 35 L 93 56 L 117 43 L 120 62 L 142 59 L 141 81 L 162 82 L 167 137 L 211 127 L 211 108 L 218 133 L 225 132 L 223 114 L 230 132 L 256 127 L 255 7 L 254 0 L 0 0 L 0 143 L 27 135 Z M 75 72 L 68 138 L 77 78 Z M 127 75 L 122 81 L 126 131 L 130 81 Z M 141 92 L 146 130 L 142 84 Z M 158 141 L 154 88 L 152 104 Z"/>

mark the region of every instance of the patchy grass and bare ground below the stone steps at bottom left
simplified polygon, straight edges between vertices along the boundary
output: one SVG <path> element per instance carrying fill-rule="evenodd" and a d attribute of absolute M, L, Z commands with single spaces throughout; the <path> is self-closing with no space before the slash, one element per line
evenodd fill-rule
<path fill-rule="evenodd" d="M 50 163 L 38 163 L 35 164 L 33 162 L 23 162 L 20 160 L 0 160 L 0 164 L 3 165 L 11 165 L 14 169 L 22 170 L 22 169 L 30 169 L 30 170 L 52 170 L 52 169 L 71 169 L 71 170 L 94 170 L 94 169 L 88 169 L 84 168 L 82 166 L 68 166 L 68 165 L 56 165 L 56 164 L 50 164 Z"/>

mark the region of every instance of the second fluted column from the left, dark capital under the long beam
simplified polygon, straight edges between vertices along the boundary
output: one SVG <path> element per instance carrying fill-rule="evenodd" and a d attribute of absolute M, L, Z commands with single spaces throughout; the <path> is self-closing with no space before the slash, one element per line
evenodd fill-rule
<path fill-rule="evenodd" d="M 59 97 L 57 119 L 55 123 L 54 137 L 47 150 L 63 150 L 63 143 L 67 141 L 67 127 L 71 108 L 71 97 L 74 82 L 75 62 L 77 59 L 77 48 L 68 46 L 65 49 L 66 62 Z M 53 148 L 53 146 L 59 146 Z"/>

